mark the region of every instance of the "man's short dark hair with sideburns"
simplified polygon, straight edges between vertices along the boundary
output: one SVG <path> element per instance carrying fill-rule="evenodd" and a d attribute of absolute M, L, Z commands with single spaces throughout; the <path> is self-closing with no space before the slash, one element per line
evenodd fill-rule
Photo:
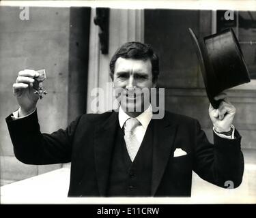
<path fill-rule="evenodd" d="M 110 76 L 112 80 L 115 72 L 115 61 L 117 61 L 119 57 L 144 61 L 150 59 L 152 65 L 152 80 L 153 82 L 157 81 L 159 76 L 159 59 L 150 44 L 143 44 L 141 42 L 126 42 L 126 44 L 123 44 L 120 48 L 118 48 L 109 63 L 111 70 Z"/>

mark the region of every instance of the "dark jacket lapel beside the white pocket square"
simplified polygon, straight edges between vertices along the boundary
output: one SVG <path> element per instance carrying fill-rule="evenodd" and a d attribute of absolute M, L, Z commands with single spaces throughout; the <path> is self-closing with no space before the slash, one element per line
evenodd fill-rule
<path fill-rule="evenodd" d="M 154 196 L 171 156 L 177 125 L 165 118 L 152 121 L 154 122 L 154 143 L 151 194 Z"/>

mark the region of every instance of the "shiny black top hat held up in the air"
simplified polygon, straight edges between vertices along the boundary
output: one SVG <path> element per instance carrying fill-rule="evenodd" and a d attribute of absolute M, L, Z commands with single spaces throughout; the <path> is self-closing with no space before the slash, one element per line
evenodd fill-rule
<path fill-rule="evenodd" d="M 225 29 L 197 39 L 189 28 L 201 66 L 206 93 L 212 106 L 218 108 L 221 100 L 214 97 L 226 89 L 250 82 L 242 50 L 232 29 Z"/>

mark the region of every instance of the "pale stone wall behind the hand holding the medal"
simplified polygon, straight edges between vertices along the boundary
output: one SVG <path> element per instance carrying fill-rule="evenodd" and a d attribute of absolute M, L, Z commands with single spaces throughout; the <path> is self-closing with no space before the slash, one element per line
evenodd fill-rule
<path fill-rule="evenodd" d="M 0 7 L 0 152 L 1 185 L 60 168 L 30 166 L 15 157 L 5 117 L 18 108 L 12 84 L 22 69 L 46 69 L 48 95 L 38 103 L 42 132 L 66 127 L 70 9 L 30 7 L 20 20 L 19 7 Z"/>

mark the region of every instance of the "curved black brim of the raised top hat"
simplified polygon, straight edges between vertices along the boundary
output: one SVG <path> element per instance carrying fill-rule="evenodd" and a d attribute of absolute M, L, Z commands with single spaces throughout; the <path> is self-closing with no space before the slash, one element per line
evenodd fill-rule
<path fill-rule="evenodd" d="M 218 95 L 218 91 L 216 92 L 216 86 L 218 84 L 216 76 L 214 75 L 214 69 L 210 64 L 210 59 L 207 55 L 207 50 L 205 48 L 205 44 L 203 40 L 197 39 L 197 36 L 193 32 L 192 29 L 189 28 L 190 36 L 192 37 L 193 44 L 196 48 L 197 57 L 199 59 L 200 67 L 201 67 L 201 74 L 203 76 L 203 82 L 205 84 L 205 91 L 208 95 L 208 99 L 210 104 L 217 109 L 218 106 L 221 104 L 222 100 L 216 101 L 214 97 Z"/>

